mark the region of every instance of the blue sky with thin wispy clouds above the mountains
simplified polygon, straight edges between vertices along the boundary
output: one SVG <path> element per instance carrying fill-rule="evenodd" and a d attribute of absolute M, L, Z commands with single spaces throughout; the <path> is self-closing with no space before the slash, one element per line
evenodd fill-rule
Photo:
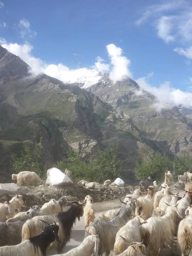
<path fill-rule="evenodd" d="M 114 44 L 131 61 L 128 69 L 134 80 L 145 77 L 151 86 L 169 81 L 182 91 L 192 88 L 190 0 L 1 3 L 1 44 L 30 45 L 30 56 L 47 65 L 92 68 L 97 56 L 108 64 L 106 46 Z"/>

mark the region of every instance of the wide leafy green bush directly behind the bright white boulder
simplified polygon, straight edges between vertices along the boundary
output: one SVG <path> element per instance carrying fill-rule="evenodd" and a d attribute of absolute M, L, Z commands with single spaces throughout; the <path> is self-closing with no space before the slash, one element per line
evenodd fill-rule
<path fill-rule="evenodd" d="M 96 155 L 89 160 L 80 157 L 78 152 L 68 151 L 71 162 L 57 162 L 58 168 L 72 171 L 76 180 L 88 180 L 102 183 L 108 179 L 115 179 L 121 174 L 121 160 L 117 158 L 117 152 L 110 149 L 109 152 L 98 149 Z"/>

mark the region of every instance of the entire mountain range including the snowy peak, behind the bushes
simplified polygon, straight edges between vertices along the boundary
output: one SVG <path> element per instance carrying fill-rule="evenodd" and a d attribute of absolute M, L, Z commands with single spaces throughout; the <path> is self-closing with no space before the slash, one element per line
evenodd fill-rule
<path fill-rule="evenodd" d="M 41 137 L 47 168 L 68 160 L 68 147 L 82 157 L 116 147 L 127 183 L 134 181 L 136 162 L 157 150 L 191 154 L 191 109 L 157 111 L 156 98 L 130 78 L 113 84 L 108 75 L 87 69 L 83 79 L 64 84 L 31 76 L 29 68 L 0 46 L 0 181 L 10 181 L 11 153 Z"/>

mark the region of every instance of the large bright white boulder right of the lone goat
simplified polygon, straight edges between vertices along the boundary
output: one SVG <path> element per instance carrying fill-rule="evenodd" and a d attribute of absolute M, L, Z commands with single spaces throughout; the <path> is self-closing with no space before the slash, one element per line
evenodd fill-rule
<path fill-rule="evenodd" d="M 59 169 L 54 167 L 47 171 L 47 180 L 45 184 L 62 187 L 73 184 L 73 181 Z"/>

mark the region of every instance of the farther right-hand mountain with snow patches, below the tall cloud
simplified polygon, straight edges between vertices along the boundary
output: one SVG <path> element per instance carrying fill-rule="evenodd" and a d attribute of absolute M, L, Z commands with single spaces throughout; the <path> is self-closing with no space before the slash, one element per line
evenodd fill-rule
<path fill-rule="evenodd" d="M 156 98 L 141 90 L 132 79 L 113 84 L 108 75 L 87 88 L 114 109 L 130 117 L 143 138 L 154 142 L 159 150 L 180 155 L 192 146 L 192 110 L 175 107 L 157 111 Z"/>

